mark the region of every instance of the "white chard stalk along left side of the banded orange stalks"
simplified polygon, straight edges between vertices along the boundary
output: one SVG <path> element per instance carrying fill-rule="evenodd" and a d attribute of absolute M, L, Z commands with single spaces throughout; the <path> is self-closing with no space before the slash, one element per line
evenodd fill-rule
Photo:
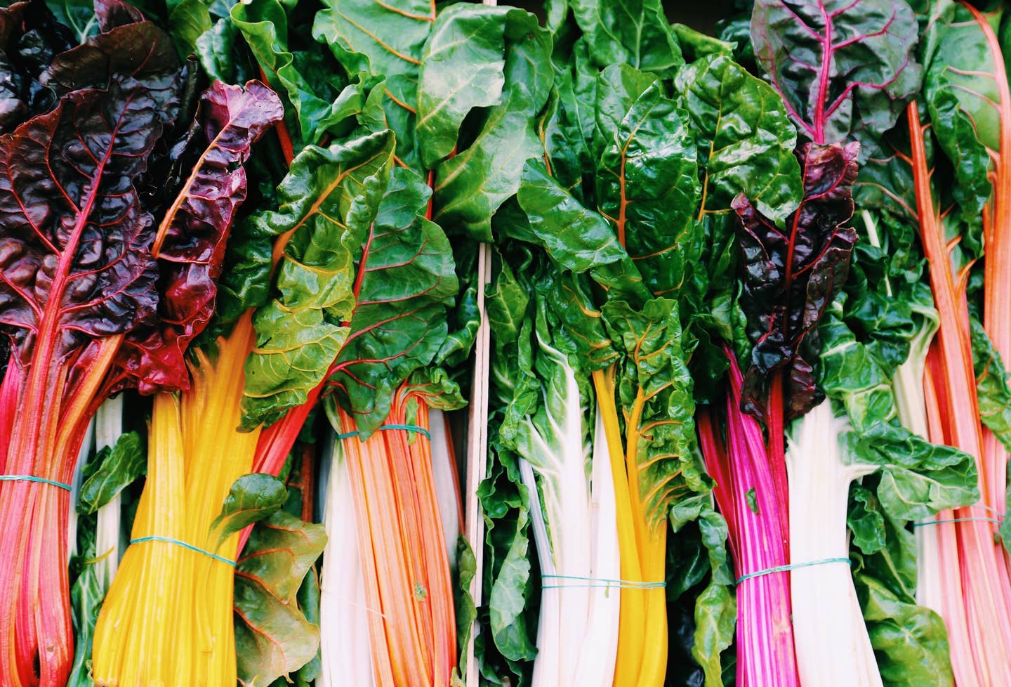
<path fill-rule="evenodd" d="M 333 431 L 324 447 L 329 463 L 324 523 L 327 547 L 319 577 L 319 687 L 372 687 L 365 578 L 358 555 L 358 521 L 352 503 L 351 480 L 341 441 Z"/>

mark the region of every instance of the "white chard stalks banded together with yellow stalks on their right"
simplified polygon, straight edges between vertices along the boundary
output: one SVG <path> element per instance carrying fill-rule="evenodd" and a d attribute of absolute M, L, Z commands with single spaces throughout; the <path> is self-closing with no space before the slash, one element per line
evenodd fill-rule
<path fill-rule="evenodd" d="M 533 687 L 609 687 L 618 651 L 621 593 L 611 463 L 598 417 L 590 461 L 586 408 L 566 356 L 544 341 L 555 363 L 543 389 L 544 415 L 527 417 L 518 440 L 520 474 L 543 592 Z"/>

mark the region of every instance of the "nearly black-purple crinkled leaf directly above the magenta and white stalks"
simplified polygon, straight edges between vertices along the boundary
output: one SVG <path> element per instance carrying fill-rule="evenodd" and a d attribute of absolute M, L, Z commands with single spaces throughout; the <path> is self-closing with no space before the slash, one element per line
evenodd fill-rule
<path fill-rule="evenodd" d="M 787 417 L 804 415 L 824 395 L 815 387 L 818 323 L 842 288 L 856 232 L 851 186 L 859 144 L 803 145 L 804 199 L 780 229 L 744 195 L 733 202 L 740 219 L 744 265 L 741 306 L 754 342 L 744 376 L 742 407 L 762 415 L 773 370 L 789 371 Z"/>

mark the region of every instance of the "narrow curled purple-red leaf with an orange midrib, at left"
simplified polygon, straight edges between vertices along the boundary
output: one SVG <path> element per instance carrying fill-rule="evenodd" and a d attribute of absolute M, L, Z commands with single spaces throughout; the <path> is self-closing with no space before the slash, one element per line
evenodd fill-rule
<path fill-rule="evenodd" d="M 161 221 L 152 245 L 163 296 L 157 328 L 127 337 L 122 374 L 143 394 L 189 387 L 183 355 L 214 312 L 216 281 L 236 209 L 246 199 L 250 149 L 284 114 L 259 81 L 215 82 L 201 98 L 207 147 Z"/>

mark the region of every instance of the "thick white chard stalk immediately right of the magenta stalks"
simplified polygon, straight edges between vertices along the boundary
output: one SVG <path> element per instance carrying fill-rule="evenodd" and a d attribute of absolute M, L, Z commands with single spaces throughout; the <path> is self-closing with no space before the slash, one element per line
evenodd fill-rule
<path fill-rule="evenodd" d="M 850 462 L 839 437 L 847 430 L 825 402 L 795 424 L 787 451 L 794 643 L 803 685 L 881 687 L 870 637 L 848 560 L 849 484 L 876 466 Z"/>

